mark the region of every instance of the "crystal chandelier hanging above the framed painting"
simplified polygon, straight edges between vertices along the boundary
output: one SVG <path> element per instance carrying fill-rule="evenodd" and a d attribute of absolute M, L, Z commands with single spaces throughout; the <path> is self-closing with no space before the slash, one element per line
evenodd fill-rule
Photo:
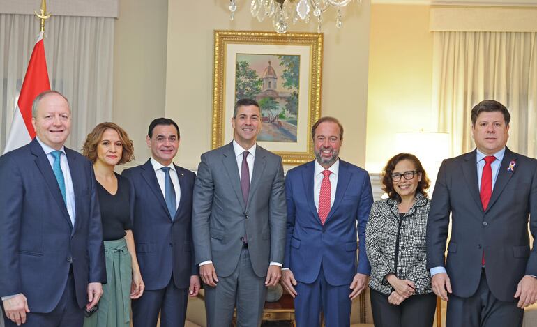
<path fill-rule="evenodd" d="M 310 22 L 313 15 L 317 18 L 317 32 L 321 33 L 322 14 L 328 8 L 334 7 L 338 10 L 338 17 L 335 26 L 341 28 L 341 8 L 347 6 L 354 0 L 252 0 L 250 12 L 259 22 L 272 18 L 274 30 L 280 34 L 287 32 L 289 21 L 296 24 L 298 20 Z M 362 0 L 356 0 L 360 3 Z M 234 20 L 237 10 L 236 0 L 229 0 L 229 11 L 231 20 Z"/>

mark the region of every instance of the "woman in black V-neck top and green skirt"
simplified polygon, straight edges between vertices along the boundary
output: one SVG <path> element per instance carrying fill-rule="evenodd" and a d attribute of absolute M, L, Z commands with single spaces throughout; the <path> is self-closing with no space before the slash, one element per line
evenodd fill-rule
<path fill-rule="evenodd" d="M 144 292 L 131 231 L 134 190 L 126 177 L 114 172 L 116 165 L 133 160 L 133 151 L 133 141 L 115 123 L 98 124 L 82 146 L 82 154 L 93 162 L 97 180 L 108 280 L 98 311 L 86 313 L 84 327 L 128 327 L 130 299 Z"/>

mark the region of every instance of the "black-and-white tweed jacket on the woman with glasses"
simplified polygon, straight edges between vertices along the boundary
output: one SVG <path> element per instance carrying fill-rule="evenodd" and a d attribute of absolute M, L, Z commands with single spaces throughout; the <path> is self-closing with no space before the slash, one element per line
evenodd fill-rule
<path fill-rule="evenodd" d="M 416 294 L 432 292 L 425 249 L 429 208 L 430 200 L 418 193 L 414 205 L 400 219 L 397 201 L 375 201 L 365 229 L 365 251 L 371 263 L 369 286 L 372 289 L 390 294 L 393 288 L 385 277 L 394 273 L 399 279 L 414 282 Z"/>

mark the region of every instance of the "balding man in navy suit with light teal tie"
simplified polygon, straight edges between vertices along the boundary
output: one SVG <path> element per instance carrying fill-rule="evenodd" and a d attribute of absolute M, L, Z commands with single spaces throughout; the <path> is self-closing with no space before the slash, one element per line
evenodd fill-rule
<path fill-rule="evenodd" d="M 91 162 L 63 144 L 69 103 L 33 100 L 36 138 L 0 157 L 0 296 L 6 326 L 80 327 L 106 282 Z"/>

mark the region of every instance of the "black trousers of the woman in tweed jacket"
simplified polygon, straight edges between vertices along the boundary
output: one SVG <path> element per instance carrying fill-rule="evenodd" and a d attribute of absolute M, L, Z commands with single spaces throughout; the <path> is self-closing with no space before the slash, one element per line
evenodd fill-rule
<path fill-rule="evenodd" d="M 436 307 L 434 293 L 413 295 L 400 305 L 393 305 L 388 303 L 387 295 L 371 289 L 375 327 L 431 327 Z"/>

